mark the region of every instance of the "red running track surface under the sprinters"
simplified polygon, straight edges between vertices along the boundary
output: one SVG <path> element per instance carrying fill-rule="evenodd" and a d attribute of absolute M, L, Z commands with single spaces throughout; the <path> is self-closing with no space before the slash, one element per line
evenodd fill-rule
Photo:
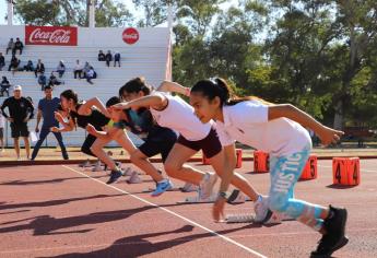
<path fill-rule="evenodd" d="M 319 162 L 319 178 L 299 181 L 296 198 L 349 209 L 350 244 L 334 257 L 377 257 L 376 160 L 362 161 L 362 185 L 331 186 L 331 162 Z M 199 169 L 210 166 L 192 164 Z M 157 164 L 161 166 L 161 164 Z M 262 194 L 268 174 L 238 169 Z M 178 191 L 152 198 L 154 184 L 104 184 L 104 172 L 70 166 L 0 168 L 0 257 L 308 257 L 319 235 L 295 222 L 274 226 L 214 223 L 211 204 L 176 204 Z M 182 183 L 175 181 L 176 185 Z M 252 203 L 227 206 L 247 213 Z"/>

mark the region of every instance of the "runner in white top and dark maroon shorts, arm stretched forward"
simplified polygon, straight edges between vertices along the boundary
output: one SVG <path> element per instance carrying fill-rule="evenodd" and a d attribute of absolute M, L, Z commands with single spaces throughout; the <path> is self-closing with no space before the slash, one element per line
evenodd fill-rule
<path fill-rule="evenodd" d="M 140 89 L 138 89 L 140 91 Z M 130 86 L 125 93 L 126 101 L 133 99 L 139 95 L 134 86 Z M 188 94 L 189 90 L 173 82 L 163 82 L 158 87 L 161 91 L 174 91 L 177 93 Z M 202 124 L 193 113 L 193 108 L 178 96 L 170 96 L 165 93 L 155 92 L 149 96 L 140 97 L 128 103 L 114 106 L 117 109 L 127 108 L 150 108 L 156 122 L 162 127 L 168 127 L 179 132 L 179 138 L 173 146 L 166 162 L 165 171 L 170 177 L 189 181 L 203 188 L 202 197 L 208 198 L 212 194 L 212 187 L 216 176 L 209 173 L 200 172 L 185 163 L 198 151 L 202 150 L 204 155 L 210 159 L 211 165 L 217 175 L 222 175 L 224 167 L 223 151 L 213 128 L 213 121 Z M 252 189 L 250 184 L 239 174 L 235 174 L 232 184 L 245 192 L 251 200 L 261 202 L 261 197 Z M 267 210 L 257 209 L 259 220 L 263 220 Z"/>

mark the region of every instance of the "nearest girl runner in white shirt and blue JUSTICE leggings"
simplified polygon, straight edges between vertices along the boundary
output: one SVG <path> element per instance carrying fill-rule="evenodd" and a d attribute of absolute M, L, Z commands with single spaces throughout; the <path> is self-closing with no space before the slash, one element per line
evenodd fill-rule
<path fill-rule="evenodd" d="M 310 137 L 303 126 L 313 129 L 325 144 L 339 141 L 342 131 L 325 127 L 288 104 L 273 105 L 255 97 L 231 99 L 229 87 L 222 79 L 196 83 L 191 89 L 190 104 L 202 122 L 216 121 L 226 163 L 235 164 L 236 140 L 270 153 L 271 186 L 267 206 L 322 234 L 310 257 L 330 257 L 347 244 L 345 209 L 325 208 L 293 197 L 294 186 L 311 150 Z M 221 198 L 214 204 L 215 220 L 224 209 L 233 169 L 234 166 L 224 166 Z"/>

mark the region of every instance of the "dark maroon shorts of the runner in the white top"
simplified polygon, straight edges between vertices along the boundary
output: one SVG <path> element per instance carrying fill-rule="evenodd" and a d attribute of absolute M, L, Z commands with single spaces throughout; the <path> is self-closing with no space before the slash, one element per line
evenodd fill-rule
<path fill-rule="evenodd" d="M 211 128 L 211 131 L 202 140 L 189 141 L 185 137 L 179 136 L 177 142 L 195 151 L 202 150 L 203 154 L 208 159 L 217 155 L 223 149 L 219 140 L 217 132 L 214 128 Z"/>

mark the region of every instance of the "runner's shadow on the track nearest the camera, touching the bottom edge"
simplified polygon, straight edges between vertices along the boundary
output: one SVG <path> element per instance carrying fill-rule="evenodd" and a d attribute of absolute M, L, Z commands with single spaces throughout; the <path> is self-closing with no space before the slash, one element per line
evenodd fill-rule
<path fill-rule="evenodd" d="M 232 230 L 220 231 L 217 233 L 221 235 L 224 235 L 224 234 L 228 234 L 232 232 L 236 232 L 239 230 L 246 230 L 246 228 L 250 228 L 250 225 L 237 227 L 237 228 L 232 228 Z M 105 249 L 91 251 L 91 253 L 86 253 L 86 254 L 85 253 L 72 253 L 72 254 L 59 255 L 59 256 L 54 256 L 54 258 L 140 257 L 140 256 L 150 255 L 153 253 L 166 250 L 166 249 L 169 249 L 172 247 L 182 245 L 182 244 L 191 242 L 191 241 L 199 241 L 199 239 L 202 239 L 205 237 L 214 237 L 214 235 L 211 233 L 200 233 L 200 234 L 193 234 L 193 235 L 186 235 L 186 236 L 181 236 L 181 237 L 173 238 L 173 239 L 170 238 L 170 239 L 164 241 L 164 242 L 151 243 L 150 241 L 148 241 L 148 238 L 151 238 L 151 237 L 191 232 L 192 230 L 193 230 L 193 226 L 185 225 L 185 226 L 182 226 L 178 230 L 175 230 L 175 231 L 148 233 L 148 234 L 141 234 L 141 235 L 136 235 L 136 236 L 123 237 L 123 238 L 116 241 L 115 243 L 113 243 L 111 246 L 109 246 Z M 49 256 L 49 257 L 51 257 L 51 256 Z M 42 257 L 39 257 L 39 258 L 42 258 Z"/>

